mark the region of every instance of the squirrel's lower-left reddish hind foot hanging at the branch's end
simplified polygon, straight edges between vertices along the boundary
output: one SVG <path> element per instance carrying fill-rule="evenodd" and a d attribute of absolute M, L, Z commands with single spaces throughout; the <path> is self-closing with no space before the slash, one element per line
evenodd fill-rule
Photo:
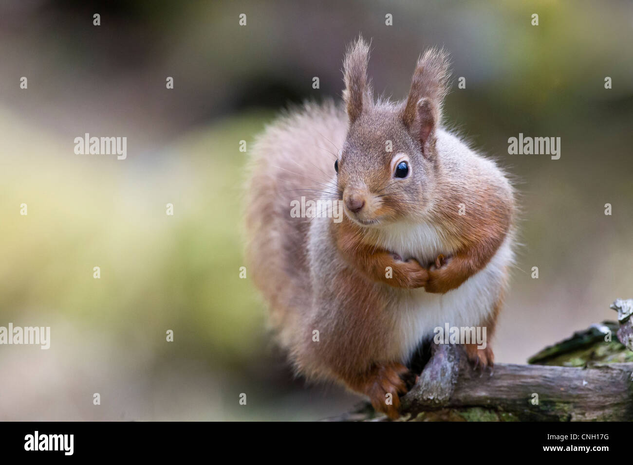
<path fill-rule="evenodd" d="M 379 365 L 372 370 L 365 383 L 365 394 L 375 411 L 396 419 L 400 416 L 400 395 L 406 394 L 413 378 L 411 371 L 403 364 Z"/>

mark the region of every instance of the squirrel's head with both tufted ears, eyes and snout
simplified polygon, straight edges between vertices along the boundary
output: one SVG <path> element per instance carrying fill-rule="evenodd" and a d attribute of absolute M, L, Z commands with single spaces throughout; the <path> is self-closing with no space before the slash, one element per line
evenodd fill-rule
<path fill-rule="evenodd" d="M 448 54 L 437 49 L 422 54 L 409 96 L 399 103 L 373 100 L 368 60 L 369 45 L 359 37 L 344 60 L 349 128 L 334 168 L 348 217 L 377 226 L 419 215 L 429 204 Z"/>

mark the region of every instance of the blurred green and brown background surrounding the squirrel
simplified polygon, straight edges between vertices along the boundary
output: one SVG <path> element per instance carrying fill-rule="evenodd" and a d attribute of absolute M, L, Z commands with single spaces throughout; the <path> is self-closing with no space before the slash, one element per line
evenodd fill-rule
<path fill-rule="evenodd" d="M 318 419 L 358 401 L 293 378 L 265 305 L 239 279 L 239 141 L 250 147 L 288 103 L 338 98 L 359 32 L 372 39 L 375 89 L 394 99 L 418 54 L 446 47 L 467 84 L 453 86 L 448 124 L 515 177 L 523 245 L 498 361 L 524 363 L 615 319 L 610 302 L 632 297 L 628 1 L 7 0 L 0 10 L 0 326 L 51 326 L 49 350 L 0 346 L 0 419 Z M 127 159 L 76 155 L 85 132 L 127 137 Z M 508 155 L 520 132 L 561 137 L 561 158 Z"/>

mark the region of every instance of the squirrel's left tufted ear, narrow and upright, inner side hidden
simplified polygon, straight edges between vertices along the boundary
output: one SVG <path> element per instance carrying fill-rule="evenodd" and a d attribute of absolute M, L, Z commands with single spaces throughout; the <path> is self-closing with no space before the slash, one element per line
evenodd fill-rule
<path fill-rule="evenodd" d="M 367 65 L 369 63 L 369 44 L 361 35 L 348 47 L 343 61 L 343 80 L 345 90 L 343 100 L 348 109 L 349 122 L 353 123 L 372 102 L 372 90 L 367 81 Z"/>

